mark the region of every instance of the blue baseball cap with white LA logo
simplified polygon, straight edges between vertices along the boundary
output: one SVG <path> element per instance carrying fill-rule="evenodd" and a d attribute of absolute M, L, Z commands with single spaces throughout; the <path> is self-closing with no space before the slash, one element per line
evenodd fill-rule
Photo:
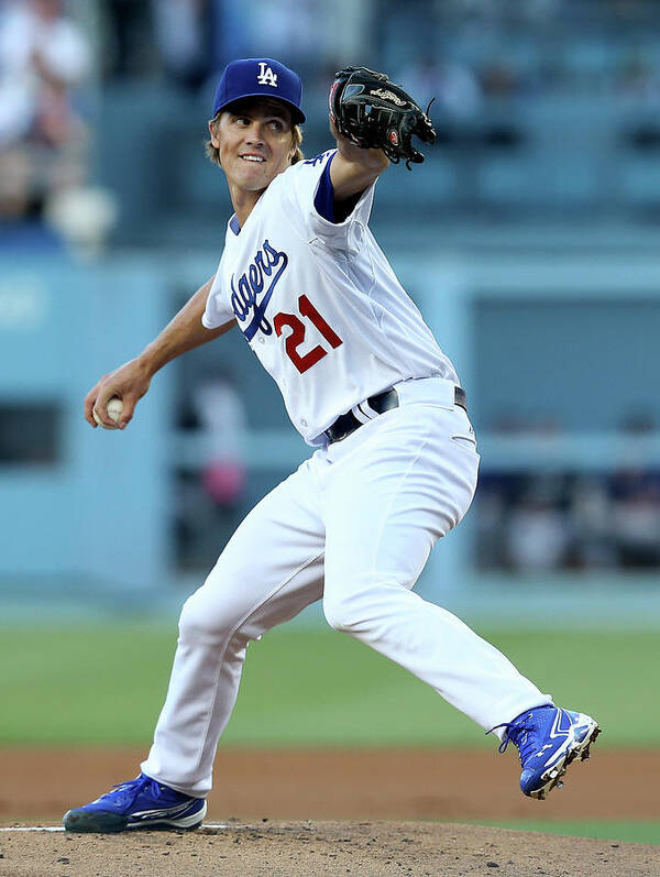
<path fill-rule="evenodd" d="M 228 64 L 216 90 L 213 117 L 234 100 L 253 97 L 282 100 L 292 111 L 295 124 L 305 121 L 300 77 L 273 58 L 240 58 Z"/>

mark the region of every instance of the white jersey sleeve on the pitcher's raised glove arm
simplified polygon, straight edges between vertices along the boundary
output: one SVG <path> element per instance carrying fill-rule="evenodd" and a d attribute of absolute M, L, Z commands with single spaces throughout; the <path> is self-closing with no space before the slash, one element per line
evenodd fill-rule
<path fill-rule="evenodd" d="M 369 224 L 374 200 L 375 182 L 360 196 L 341 222 L 334 222 L 330 163 L 337 150 L 329 150 L 316 158 L 299 162 L 283 174 L 287 216 L 306 239 L 318 238 L 331 250 L 360 248 L 363 229 Z"/>

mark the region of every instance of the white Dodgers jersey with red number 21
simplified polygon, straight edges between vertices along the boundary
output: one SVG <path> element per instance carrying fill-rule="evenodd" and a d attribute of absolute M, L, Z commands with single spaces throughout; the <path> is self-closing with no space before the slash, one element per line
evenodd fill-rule
<path fill-rule="evenodd" d="M 271 183 L 224 252 L 207 300 L 208 329 L 237 318 L 310 445 L 354 405 L 400 381 L 459 383 L 369 229 L 374 185 L 343 222 L 315 196 L 336 150 Z"/>

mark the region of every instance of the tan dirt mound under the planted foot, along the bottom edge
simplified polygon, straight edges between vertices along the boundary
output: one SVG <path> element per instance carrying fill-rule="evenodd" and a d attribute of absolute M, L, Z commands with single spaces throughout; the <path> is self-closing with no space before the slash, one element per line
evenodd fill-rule
<path fill-rule="evenodd" d="M 660 847 L 428 822 L 270 822 L 197 832 L 0 833 L 2 877 L 660 875 Z"/>

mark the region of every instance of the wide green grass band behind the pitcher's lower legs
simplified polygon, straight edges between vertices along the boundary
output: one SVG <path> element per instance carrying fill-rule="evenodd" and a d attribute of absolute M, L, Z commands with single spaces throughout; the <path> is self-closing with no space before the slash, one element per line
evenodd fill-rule
<path fill-rule="evenodd" d="M 600 745 L 658 746 L 652 632 L 480 632 L 542 691 L 593 713 Z M 176 631 L 154 624 L 0 627 L 0 743 L 146 745 Z M 457 658 L 460 660 L 460 656 Z M 644 722 L 630 715 L 644 711 Z M 329 629 L 279 628 L 251 644 L 223 744 L 493 746 L 399 667 Z"/>

